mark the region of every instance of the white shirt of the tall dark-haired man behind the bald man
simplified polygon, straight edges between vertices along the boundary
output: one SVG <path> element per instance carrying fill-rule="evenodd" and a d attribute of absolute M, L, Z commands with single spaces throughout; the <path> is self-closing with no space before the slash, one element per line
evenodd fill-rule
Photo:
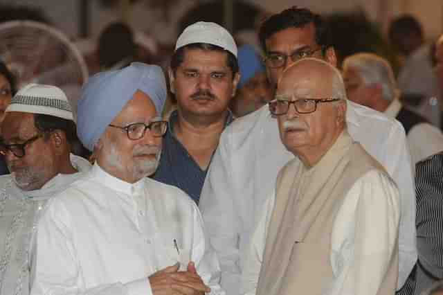
<path fill-rule="evenodd" d="M 400 191 L 399 287 L 417 260 L 415 185 L 401 124 L 379 111 L 347 101 L 347 130 L 381 163 Z M 293 154 L 268 106 L 238 118 L 221 134 L 199 203 L 221 266 L 221 287 L 238 294 L 244 251 L 278 171 Z"/>

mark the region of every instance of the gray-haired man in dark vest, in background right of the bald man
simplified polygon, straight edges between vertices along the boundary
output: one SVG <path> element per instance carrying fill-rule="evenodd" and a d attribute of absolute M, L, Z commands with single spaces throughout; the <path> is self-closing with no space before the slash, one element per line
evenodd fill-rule
<path fill-rule="evenodd" d="M 390 64 L 372 53 L 357 53 L 343 62 L 347 97 L 353 102 L 396 118 L 406 131 L 413 163 L 443 150 L 443 134 L 426 118 L 399 100 Z"/>

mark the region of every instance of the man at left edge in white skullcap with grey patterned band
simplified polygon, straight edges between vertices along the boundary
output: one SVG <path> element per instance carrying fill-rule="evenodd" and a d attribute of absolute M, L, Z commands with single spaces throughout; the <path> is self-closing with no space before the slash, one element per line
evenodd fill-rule
<path fill-rule="evenodd" d="M 1 134 L 0 153 L 11 174 L 0 177 L 0 294 L 29 294 L 39 215 L 90 165 L 70 154 L 75 123 L 57 87 L 21 89 L 6 109 Z"/>

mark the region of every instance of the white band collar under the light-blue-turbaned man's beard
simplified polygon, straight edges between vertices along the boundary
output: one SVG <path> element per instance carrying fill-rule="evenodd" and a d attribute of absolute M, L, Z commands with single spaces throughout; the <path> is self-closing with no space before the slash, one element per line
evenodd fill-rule
<path fill-rule="evenodd" d="M 134 195 L 136 193 L 141 193 L 143 188 L 145 188 L 145 177 L 140 179 L 134 184 L 129 184 L 129 182 L 123 181 L 117 177 L 110 175 L 108 172 L 103 170 L 98 163 L 94 163 L 90 172 L 91 178 L 98 181 L 100 184 L 116 190 L 125 195 Z"/>

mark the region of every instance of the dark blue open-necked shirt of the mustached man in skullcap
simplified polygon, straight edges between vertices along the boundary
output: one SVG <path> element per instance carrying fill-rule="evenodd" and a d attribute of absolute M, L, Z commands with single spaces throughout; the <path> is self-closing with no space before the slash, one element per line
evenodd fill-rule
<path fill-rule="evenodd" d="M 208 170 L 201 170 L 199 164 L 192 159 L 186 148 L 174 135 L 173 126 L 177 122 L 177 118 L 177 111 L 173 111 L 169 119 L 168 131 L 163 136 L 159 167 L 153 178 L 164 184 L 177 186 L 198 205 L 201 188 L 203 188 Z M 229 112 L 226 125 L 230 124 L 232 120 L 233 116 Z"/>

